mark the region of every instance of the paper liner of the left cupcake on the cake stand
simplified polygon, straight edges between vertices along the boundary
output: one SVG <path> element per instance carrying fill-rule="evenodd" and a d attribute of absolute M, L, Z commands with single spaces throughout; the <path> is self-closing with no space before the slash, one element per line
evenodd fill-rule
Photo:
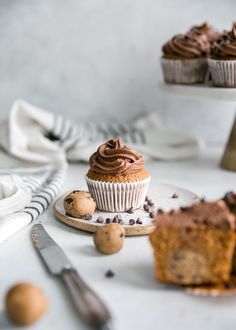
<path fill-rule="evenodd" d="M 164 79 L 171 84 L 203 83 L 207 75 L 207 59 L 172 60 L 161 58 Z"/>

